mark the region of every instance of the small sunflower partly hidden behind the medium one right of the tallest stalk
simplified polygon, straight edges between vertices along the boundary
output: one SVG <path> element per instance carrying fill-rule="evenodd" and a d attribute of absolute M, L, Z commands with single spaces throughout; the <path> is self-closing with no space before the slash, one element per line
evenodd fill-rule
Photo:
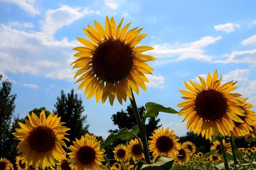
<path fill-rule="evenodd" d="M 176 156 L 176 160 L 179 165 L 185 165 L 186 162 L 188 162 L 190 158 L 190 150 L 187 148 L 186 145 L 179 144 L 177 146 L 179 153 Z"/>

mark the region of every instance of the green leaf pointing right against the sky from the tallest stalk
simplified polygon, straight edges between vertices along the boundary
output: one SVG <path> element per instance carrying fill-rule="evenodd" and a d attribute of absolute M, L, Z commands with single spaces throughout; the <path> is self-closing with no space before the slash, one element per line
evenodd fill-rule
<path fill-rule="evenodd" d="M 158 116 L 159 112 L 165 112 L 165 113 L 179 113 L 176 110 L 172 109 L 171 107 L 164 107 L 160 104 L 156 104 L 153 102 L 148 102 L 145 105 L 146 107 L 146 114 L 144 115 L 144 118 L 154 118 Z"/>

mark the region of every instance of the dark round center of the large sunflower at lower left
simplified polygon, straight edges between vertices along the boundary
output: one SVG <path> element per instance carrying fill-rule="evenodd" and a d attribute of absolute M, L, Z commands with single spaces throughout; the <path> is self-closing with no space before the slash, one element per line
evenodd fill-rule
<path fill-rule="evenodd" d="M 36 152 L 44 153 L 54 147 L 55 132 L 47 126 L 37 126 L 28 135 L 28 144 Z"/>

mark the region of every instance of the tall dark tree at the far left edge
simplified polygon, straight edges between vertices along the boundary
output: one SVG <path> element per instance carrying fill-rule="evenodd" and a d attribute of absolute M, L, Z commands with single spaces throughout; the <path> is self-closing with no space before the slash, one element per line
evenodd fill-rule
<path fill-rule="evenodd" d="M 2 80 L 0 75 L 0 80 Z M 15 110 L 14 101 L 16 94 L 11 94 L 12 83 L 9 80 L 2 82 L 0 88 L 0 157 L 10 156 L 10 136 L 11 118 Z"/>

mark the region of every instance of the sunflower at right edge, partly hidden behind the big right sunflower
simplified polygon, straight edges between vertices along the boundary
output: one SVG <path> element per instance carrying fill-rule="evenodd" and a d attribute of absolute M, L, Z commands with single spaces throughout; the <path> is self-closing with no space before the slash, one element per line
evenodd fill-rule
<path fill-rule="evenodd" d="M 256 126 L 256 115 L 255 112 L 250 110 L 253 107 L 252 104 L 246 103 L 247 99 L 238 97 L 237 100 L 242 101 L 244 105 L 240 107 L 245 111 L 245 116 L 238 116 L 244 123 L 234 122 L 235 128 L 233 133 L 236 137 L 240 137 L 254 131 Z"/>

